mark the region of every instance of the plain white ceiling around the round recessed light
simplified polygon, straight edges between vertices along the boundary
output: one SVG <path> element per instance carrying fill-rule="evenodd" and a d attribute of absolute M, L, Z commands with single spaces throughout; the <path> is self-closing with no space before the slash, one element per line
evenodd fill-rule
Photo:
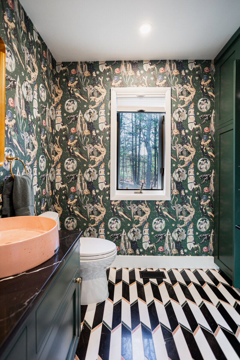
<path fill-rule="evenodd" d="M 240 26 L 239 0 L 20 1 L 56 61 L 213 59 Z"/>

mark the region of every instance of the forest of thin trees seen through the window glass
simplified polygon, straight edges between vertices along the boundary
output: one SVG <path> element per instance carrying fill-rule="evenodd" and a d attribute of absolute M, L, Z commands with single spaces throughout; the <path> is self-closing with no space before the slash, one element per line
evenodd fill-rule
<path fill-rule="evenodd" d="M 162 190 L 164 113 L 118 112 L 118 190 Z"/>

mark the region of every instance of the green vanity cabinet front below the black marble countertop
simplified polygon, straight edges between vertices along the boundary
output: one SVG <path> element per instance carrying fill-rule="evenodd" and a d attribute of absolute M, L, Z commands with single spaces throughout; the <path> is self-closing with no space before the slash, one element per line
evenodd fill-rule
<path fill-rule="evenodd" d="M 19 327 L 0 360 L 72 360 L 80 336 L 80 243 Z"/>

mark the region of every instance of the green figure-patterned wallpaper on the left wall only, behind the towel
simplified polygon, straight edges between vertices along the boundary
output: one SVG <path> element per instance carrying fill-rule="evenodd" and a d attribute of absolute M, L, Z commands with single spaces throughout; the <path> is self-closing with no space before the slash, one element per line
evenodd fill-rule
<path fill-rule="evenodd" d="M 49 174 L 55 144 L 53 102 L 58 91 L 55 60 L 17 0 L 1 0 L 0 10 L 0 36 L 6 46 L 5 156 L 24 161 L 39 215 L 54 207 Z M 12 168 L 14 174 L 24 173 L 17 160 Z M 8 176 L 10 163 L 5 160 L 0 167 L 0 194 Z"/>

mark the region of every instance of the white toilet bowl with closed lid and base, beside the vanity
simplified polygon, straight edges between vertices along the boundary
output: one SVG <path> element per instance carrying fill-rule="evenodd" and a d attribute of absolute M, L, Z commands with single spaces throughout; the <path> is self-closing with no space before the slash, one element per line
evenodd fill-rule
<path fill-rule="evenodd" d="M 100 238 L 80 238 L 81 305 L 108 298 L 106 270 L 116 255 L 116 245 Z"/>

